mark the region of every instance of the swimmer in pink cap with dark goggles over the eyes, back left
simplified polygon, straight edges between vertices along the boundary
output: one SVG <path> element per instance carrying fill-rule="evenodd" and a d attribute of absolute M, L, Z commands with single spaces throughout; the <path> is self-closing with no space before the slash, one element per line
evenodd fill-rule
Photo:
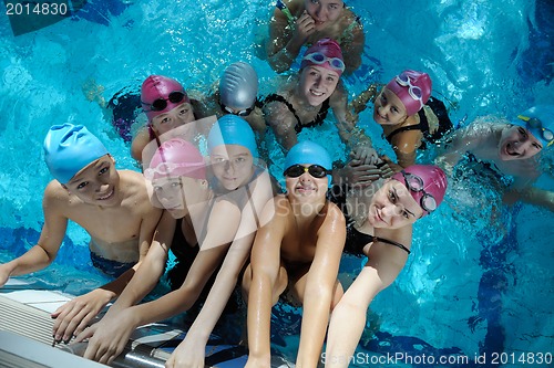
<path fill-rule="evenodd" d="M 142 161 L 143 149 L 152 140 L 178 126 L 196 120 L 194 115 L 197 102 L 188 98 L 185 88 L 177 81 L 163 76 L 150 75 L 141 88 L 142 109 L 148 118 L 148 125 L 138 130 L 131 144 L 131 156 Z"/>

